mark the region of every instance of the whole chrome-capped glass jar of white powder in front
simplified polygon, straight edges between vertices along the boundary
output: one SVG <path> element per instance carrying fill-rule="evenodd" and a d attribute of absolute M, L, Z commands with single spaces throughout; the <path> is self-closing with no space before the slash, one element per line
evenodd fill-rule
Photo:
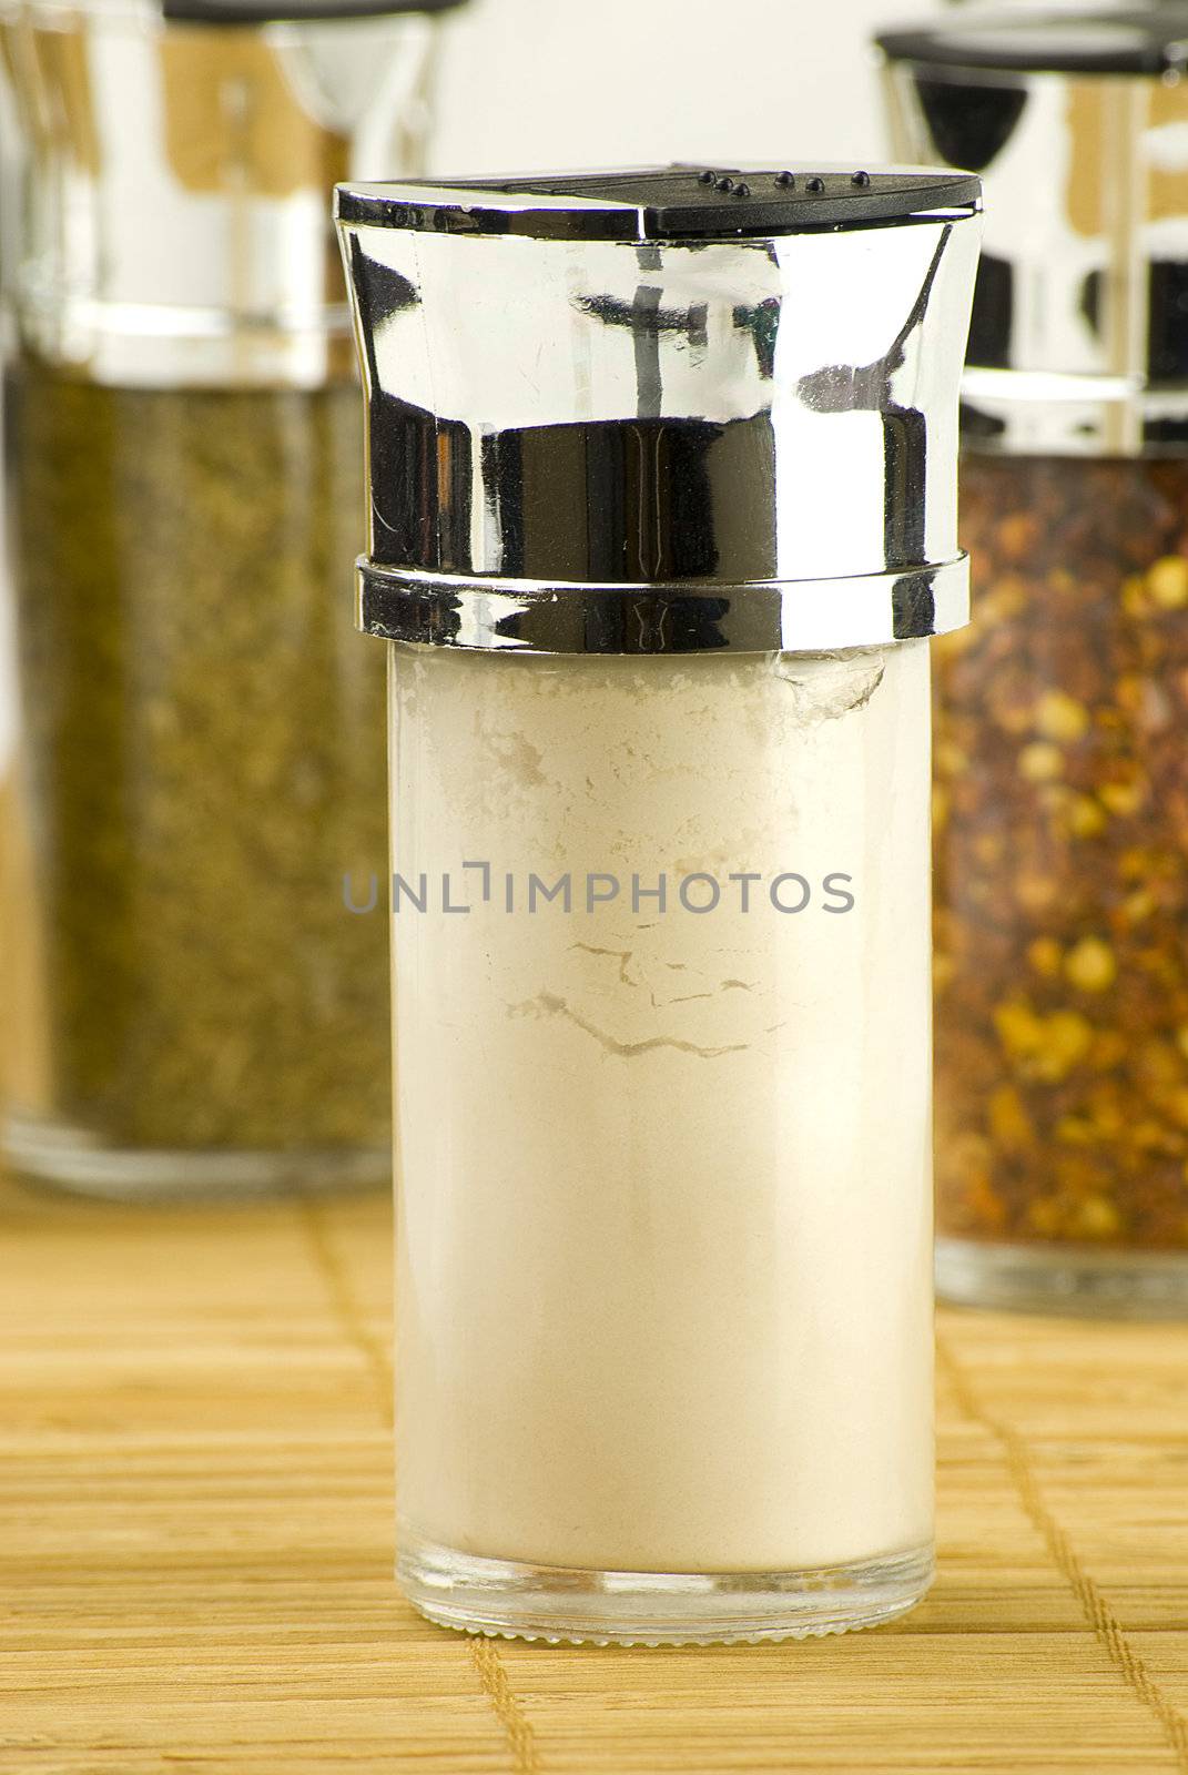
<path fill-rule="evenodd" d="M 398 1576 L 783 1638 L 932 1569 L 961 174 L 341 186 L 391 646 Z"/>

